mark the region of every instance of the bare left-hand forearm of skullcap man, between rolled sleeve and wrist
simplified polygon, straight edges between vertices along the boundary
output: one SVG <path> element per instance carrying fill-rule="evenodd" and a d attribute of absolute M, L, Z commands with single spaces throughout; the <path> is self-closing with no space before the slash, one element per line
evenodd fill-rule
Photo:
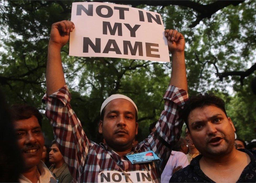
<path fill-rule="evenodd" d="M 46 67 L 46 93 L 48 96 L 66 84 L 60 50 L 59 45 L 49 42 Z"/>

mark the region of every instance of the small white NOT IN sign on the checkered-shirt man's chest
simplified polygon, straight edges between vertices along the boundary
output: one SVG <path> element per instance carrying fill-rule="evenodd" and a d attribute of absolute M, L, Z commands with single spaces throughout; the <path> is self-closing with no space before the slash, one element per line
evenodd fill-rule
<path fill-rule="evenodd" d="M 147 171 L 140 170 L 126 171 L 125 173 L 106 170 L 98 174 L 98 182 L 153 182 L 151 178 Z"/>

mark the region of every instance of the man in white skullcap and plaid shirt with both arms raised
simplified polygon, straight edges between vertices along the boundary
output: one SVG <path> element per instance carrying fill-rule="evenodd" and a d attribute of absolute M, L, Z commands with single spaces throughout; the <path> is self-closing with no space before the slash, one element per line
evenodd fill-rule
<path fill-rule="evenodd" d="M 178 141 L 183 125 L 179 117 L 187 100 L 185 70 L 185 39 L 176 30 L 166 30 L 168 48 L 172 54 L 172 77 L 163 96 L 164 110 L 156 123 L 156 131 L 136 147 L 132 142 L 137 134 L 138 109 L 132 99 L 124 95 L 111 95 L 101 107 L 99 133 L 104 142 L 90 141 L 71 108 L 71 94 L 65 83 L 61 63 L 61 48 L 75 28 L 71 21 L 52 25 L 48 45 L 46 69 L 47 91 L 43 98 L 46 116 L 51 120 L 56 142 L 69 166 L 73 181 L 77 182 L 160 182 L 160 175 L 170 156 L 172 146 Z M 127 155 L 153 151 L 161 161 L 136 164 Z M 152 157 L 153 153 L 147 153 Z"/>

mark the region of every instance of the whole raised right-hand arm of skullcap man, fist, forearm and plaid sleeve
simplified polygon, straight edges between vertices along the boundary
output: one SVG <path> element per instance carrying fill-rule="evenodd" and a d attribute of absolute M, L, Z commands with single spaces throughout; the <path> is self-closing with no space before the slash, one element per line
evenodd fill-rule
<path fill-rule="evenodd" d="M 188 86 L 186 77 L 184 47 L 185 39 L 183 35 L 176 30 L 165 31 L 168 40 L 168 48 L 172 53 L 172 76 L 170 85 L 163 96 L 164 110 L 161 113 L 159 121 L 156 123 L 156 131 L 151 133 L 143 141 L 149 147 L 147 150 L 153 150 L 163 161 L 159 164 L 159 171 L 162 172 L 170 156 L 173 145 L 179 140 L 183 125 L 179 112 L 188 100 Z"/>

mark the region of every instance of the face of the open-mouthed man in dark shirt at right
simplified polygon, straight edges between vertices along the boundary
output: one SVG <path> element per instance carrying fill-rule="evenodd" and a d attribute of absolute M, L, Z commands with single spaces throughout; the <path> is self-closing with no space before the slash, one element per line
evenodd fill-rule
<path fill-rule="evenodd" d="M 214 105 L 195 108 L 188 116 L 189 139 L 204 156 L 219 156 L 234 149 L 234 125 Z"/>

